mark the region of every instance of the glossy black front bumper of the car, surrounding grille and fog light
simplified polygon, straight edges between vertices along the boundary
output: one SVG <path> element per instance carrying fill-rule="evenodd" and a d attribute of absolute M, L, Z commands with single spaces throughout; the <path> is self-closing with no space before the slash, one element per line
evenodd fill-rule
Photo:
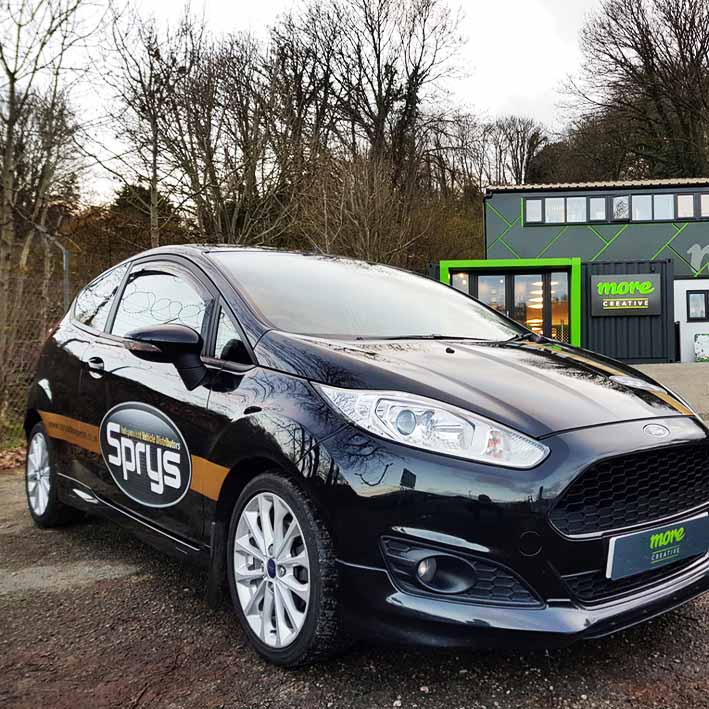
<path fill-rule="evenodd" d="M 666 422 L 676 439 L 672 445 L 707 441 L 706 429 L 694 419 Z M 550 437 L 545 443 L 551 455 L 531 471 L 413 451 L 350 427 L 339 431 L 325 441 L 327 452 L 319 452 L 335 482 L 321 491 L 329 496 L 325 506 L 351 632 L 387 643 L 560 647 L 631 627 L 709 590 L 709 555 L 605 602 L 581 601 L 564 581 L 568 575 L 604 569 L 609 541 L 622 531 L 569 538 L 550 523 L 550 511 L 592 463 L 659 447 L 642 435 L 644 423 Z M 709 501 L 702 509 L 709 510 Z M 533 553 L 525 548 L 530 533 L 539 546 Z M 412 592 L 382 552 L 382 540 L 391 537 L 499 565 L 519 578 L 538 603 Z"/>

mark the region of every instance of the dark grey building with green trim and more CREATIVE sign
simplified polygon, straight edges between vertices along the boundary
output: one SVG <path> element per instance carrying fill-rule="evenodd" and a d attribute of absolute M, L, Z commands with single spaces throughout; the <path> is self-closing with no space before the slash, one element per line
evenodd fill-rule
<path fill-rule="evenodd" d="M 489 187 L 484 205 L 485 259 L 443 261 L 442 280 L 578 346 L 694 359 L 709 336 L 709 178 Z M 602 277 L 628 297 L 600 302 Z"/>

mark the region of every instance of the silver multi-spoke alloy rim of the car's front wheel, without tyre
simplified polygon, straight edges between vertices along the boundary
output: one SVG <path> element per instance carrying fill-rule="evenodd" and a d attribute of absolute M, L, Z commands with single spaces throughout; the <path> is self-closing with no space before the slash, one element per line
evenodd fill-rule
<path fill-rule="evenodd" d="M 310 562 L 297 517 L 272 492 L 258 493 L 241 511 L 234 579 L 251 630 L 269 647 L 290 645 L 308 611 Z"/>

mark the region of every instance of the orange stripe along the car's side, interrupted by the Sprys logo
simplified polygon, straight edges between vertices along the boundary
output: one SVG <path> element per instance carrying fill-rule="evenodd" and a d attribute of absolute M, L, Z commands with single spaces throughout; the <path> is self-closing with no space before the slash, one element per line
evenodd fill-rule
<path fill-rule="evenodd" d="M 50 411 L 40 411 L 39 415 L 44 427 L 47 429 L 47 433 L 52 438 L 58 438 L 61 441 L 66 441 L 71 445 L 79 446 L 79 448 L 98 455 L 101 454 L 98 426 L 78 421 L 69 416 L 54 414 Z M 204 495 L 210 500 L 218 500 L 228 473 L 229 468 L 212 463 L 206 458 L 193 455 L 190 490 Z"/>

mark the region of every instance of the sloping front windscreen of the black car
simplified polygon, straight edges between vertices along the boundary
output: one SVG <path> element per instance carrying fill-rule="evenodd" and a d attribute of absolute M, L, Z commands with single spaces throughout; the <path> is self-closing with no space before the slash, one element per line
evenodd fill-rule
<path fill-rule="evenodd" d="M 275 328 L 302 335 L 506 340 L 526 330 L 472 298 L 396 268 L 329 256 L 213 251 Z"/>

